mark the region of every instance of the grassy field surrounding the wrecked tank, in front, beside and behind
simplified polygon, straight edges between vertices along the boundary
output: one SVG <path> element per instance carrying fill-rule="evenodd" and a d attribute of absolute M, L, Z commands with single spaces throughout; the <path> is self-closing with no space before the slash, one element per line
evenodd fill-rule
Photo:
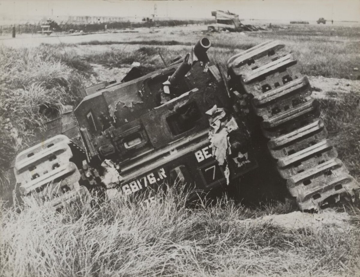
<path fill-rule="evenodd" d="M 215 62 L 264 40 L 281 39 L 304 74 L 356 80 L 359 34 L 360 28 L 289 26 L 246 36 L 207 36 Z M 150 71 L 163 66 L 159 51 L 170 60 L 204 35 L 184 29 L 166 36 L 126 34 L 122 42 L 1 47 L 0 170 L 27 146 L 36 128 L 63 105 L 79 102 L 80 89 L 93 74 L 90 63 L 128 67 L 138 61 Z M 329 138 L 360 180 L 360 92 L 330 96 L 337 98 L 321 100 Z M 96 208 L 96 199 L 83 199 L 59 213 L 36 206 L 21 207 L 21 213 L 17 207 L 1 207 L 0 276 L 359 276 L 359 206 L 338 207 L 352 215 L 341 230 L 332 224 L 288 229 L 254 219 L 294 211 L 291 202 L 249 208 L 223 198 L 189 209 L 185 200 L 186 195 L 173 192 L 148 210 L 123 199 Z"/>

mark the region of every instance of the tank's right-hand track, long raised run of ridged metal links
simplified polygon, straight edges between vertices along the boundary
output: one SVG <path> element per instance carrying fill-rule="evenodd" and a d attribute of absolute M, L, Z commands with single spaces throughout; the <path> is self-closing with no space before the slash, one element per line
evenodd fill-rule
<path fill-rule="evenodd" d="M 265 41 L 231 57 L 227 66 L 231 82 L 241 84 L 262 117 L 267 147 L 298 207 L 318 210 L 341 197 L 354 201 L 359 183 L 337 158 L 309 80 L 285 45 Z M 235 96 L 246 109 L 241 93 Z"/>

